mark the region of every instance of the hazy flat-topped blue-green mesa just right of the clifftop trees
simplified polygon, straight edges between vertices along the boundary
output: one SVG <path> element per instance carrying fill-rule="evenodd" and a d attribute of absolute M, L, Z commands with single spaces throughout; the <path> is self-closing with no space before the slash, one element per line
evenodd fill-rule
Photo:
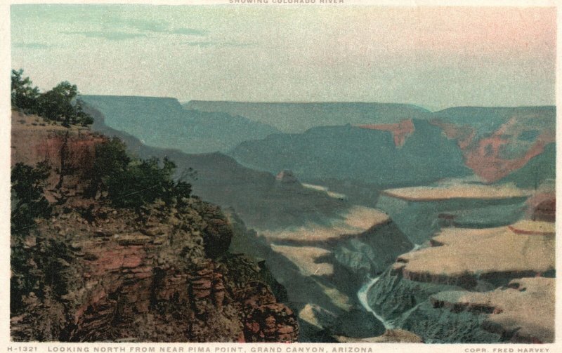
<path fill-rule="evenodd" d="M 278 132 L 239 115 L 183 109 L 174 98 L 84 95 L 81 99 L 103 112 L 107 126 L 131 133 L 147 145 L 187 153 L 225 152 L 242 141 Z"/>

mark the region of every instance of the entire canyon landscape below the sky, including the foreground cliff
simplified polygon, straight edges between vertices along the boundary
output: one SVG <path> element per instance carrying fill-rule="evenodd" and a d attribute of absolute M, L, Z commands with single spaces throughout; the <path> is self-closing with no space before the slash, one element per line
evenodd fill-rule
<path fill-rule="evenodd" d="M 13 113 L 12 163 L 47 160 L 55 205 L 20 246 L 39 259 L 62 246 L 67 284 L 25 295 L 32 310 L 12 317 L 15 339 L 553 340 L 550 107 L 190 102 L 183 112 L 167 98 L 86 102 L 91 129 Z M 177 138 L 192 139 L 150 140 L 135 130 L 138 114 L 155 114 L 151 124 L 171 114 L 171 128 L 191 129 Z M 314 119 L 274 124 L 280 114 Z M 228 124 L 197 135 L 224 121 L 267 126 L 221 147 Z M 197 197 L 141 215 L 84 197 L 95 146 L 114 136 L 131 154 L 174 160 Z M 197 138 L 215 142 L 194 149 Z"/>

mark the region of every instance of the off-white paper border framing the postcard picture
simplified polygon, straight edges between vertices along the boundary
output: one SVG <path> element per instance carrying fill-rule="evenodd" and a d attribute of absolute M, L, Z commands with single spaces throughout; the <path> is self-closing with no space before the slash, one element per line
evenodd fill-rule
<path fill-rule="evenodd" d="M 561 23 L 562 15 L 559 11 L 559 5 L 562 0 L 344 0 L 343 6 L 349 5 L 375 5 L 375 6 L 548 6 L 557 8 L 557 22 Z M 196 5 L 196 4 L 226 4 L 230 6 L 322 6 L 315 5 L 294 5 L 294 4 L 254 4 L 254 5 L 237 5 L 228 4 L 228 0 L 0 0 L 0 161 L 4 163 L 4 168 L 0 171 L 0 353 L 3 352 L 54 352 L 60 350 L 61 347 L 66 348 L 89 348 L 89 352 L 94 352 L 95 347 L 124 347 L 126 353 L 135 353 L 136 348 L 149 348 L 155 347 L 155 352 L 160 352 L 160 348 L 173 349 L 174 347 L 183 347 L 184 353 L 196 353 L 197 351 L 190 351 L 189 349 L 196 349 L 197 347 L 209 347 L 212 353 L 221 353 L 221 348 L 235 348 L 238 353 L 249 352 L 254 353 L 256 347 L 279 347 L 281 352 L 296 352 L 293 349 L 297 347 L 309 348 L 324 348 L 324 352 L 332 352 L 332 349 L 344 348 L 343 352 L 348 352 L 347 349 L 353 347 L 371 347 L 373 352 L 427 352 L 427 353 L 440 353 L 440 352 L 459 352 L 459 353 L 496 353 L 494 349 L 513 349 L 510 353 L 523 352 L 519 349 L 542 349 L 530 350 L 528 352 L 562 352 L 562 284 L 561 281 L 556 281 L 556 343 L 544 345 L 518 345 L 518 344 L 450 344 L 450 345 L 421 345 L 421 344 L 321 344 L 321 343 L 299 343 L 294 345 L 285 344 L 228 344 L 228 343 L 21 343 L 10 342 L 9 340 L 9 244 L 10 244 L 10 227 L 9 227 L 9 213 L 10 213 L 10 99 L 8 92 L 10 89 L 10 75 L 11 70 L 11 55 L 10 55 L 10 5 L 11 4 L 169 4 L 169 5 Z M 337 5 L 342 6 L 342 5 Z M 562 53 L 562 36 L 557 34 L 557 55 L 556 55 L 556 106 L 562 106 L 561 97 L 561 53 Z M 5 94 L 6 93 L 6 94 Z M 560 112 L 557 109 L 556 116 L 556 140 L 562 138 L 562 126 L 560 124 Z M 561 168 L 561 152 L 557 153 L 556 167 L 557 175 L 560 175 Z M 561 199 L 561 185 L 559 178 L 556 178 L 556 197 Z M 556 218 L 562 219 L 562 211 L 558 209 Z M 556 233 L 559 234 L 561 222 L 556 223 Z M 559 268 L 562 244 L 561 241 L 556 242 L 556 267 Z M 8 350 L 11 347 L 11 351 Z M 218 351 L 216 349 L 219 349 Z M 340 351 L 335 351 L 339 353 Z M 509 351 L 503 351 L 509 352 Z M 312 353 L 303 352 L 303 353 Z M 499 353 L 499 352 L 498 352 Z"/>

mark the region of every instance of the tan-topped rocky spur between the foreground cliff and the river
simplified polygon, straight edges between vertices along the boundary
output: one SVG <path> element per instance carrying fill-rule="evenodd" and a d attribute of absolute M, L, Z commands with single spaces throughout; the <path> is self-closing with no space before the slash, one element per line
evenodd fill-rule
<path fill-rule="evenodd" d="M 355 208 L 344 220 L 260 236 L 235 221 L 235 231 L 244 237 L 231 248 L 251 247 L 252 255 L 271 260 L 271 271 L 298 312 L 302 342 L 351 342 L 384 334 L 383 324 L 362 306 L 358 290 L 413 246 L 380 211 Z"/>

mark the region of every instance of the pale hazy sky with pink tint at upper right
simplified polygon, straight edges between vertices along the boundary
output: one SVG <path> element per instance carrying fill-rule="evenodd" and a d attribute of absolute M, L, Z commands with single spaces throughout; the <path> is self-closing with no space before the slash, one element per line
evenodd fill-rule
<path fill-rule="evenodd" d="M 40 88 L 187 100 L 554 105 L 553 8 L 11 6 Z"/>

